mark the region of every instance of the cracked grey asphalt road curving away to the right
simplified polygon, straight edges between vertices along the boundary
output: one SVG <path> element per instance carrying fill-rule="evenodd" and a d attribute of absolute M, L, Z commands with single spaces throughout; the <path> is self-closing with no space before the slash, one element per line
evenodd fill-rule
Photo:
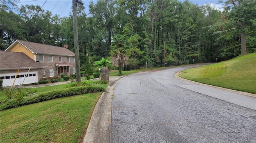
<path fill-rule="evenodd" d="M 186 68 L 191 66 L 121 80 L 112 100 L 110 142 L 256 143 L 256 98 L 174 77 Z"/>

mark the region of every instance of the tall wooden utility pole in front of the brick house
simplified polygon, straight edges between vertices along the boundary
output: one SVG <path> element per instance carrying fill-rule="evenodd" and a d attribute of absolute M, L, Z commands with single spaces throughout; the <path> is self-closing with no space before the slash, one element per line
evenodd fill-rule
<path fill-rule="evenodd" d="M 78 86 L 80 86 L 81 85 L 81 75 L 80 75 L 80 60 L 79 60 L 79 47 L 78 47 L 76 2 L 78 2 L 79 4 L 82 4 L 82 5 L 83 5 L 83 3 L 78 0 L 72 0 L 74 45 L 75 45 L 75 58 L 76 58 L 76 83 Z"/>

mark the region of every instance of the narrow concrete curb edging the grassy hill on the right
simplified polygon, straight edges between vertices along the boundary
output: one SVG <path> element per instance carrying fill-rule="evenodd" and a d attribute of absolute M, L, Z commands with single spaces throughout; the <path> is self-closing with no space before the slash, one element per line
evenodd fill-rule
<path fill-rule="evenodd" d="M 234 92 L 234 93 L 238 93 L 238 94 L 243 94 L 243 95 L 247 95 L 247 96 L 256 97 L 256 94 L 252 94 L 252 93 L 248 93 L 248 92 L 242 92 L 242 91 L 237 91 L 237 90 L 232 90 L 232 89 L 228 89 L 228 88 L 223 88 L 223 87 L 218 87 L 218 86 L 213 86 L 213 85 L 209 85 L 209 84 L 203 84 L 203 83 L 200 83 L 200 82 L 195 82 L 195 81 L 192 81 L 192 80 L 188 80 L 188 79 L 185 79 L 185 78 L 182 78 L 182 77 L 178 76 L 179 73 L 180 72 L 176 72 L 174 74 L 175 78 L 178 78 L 178 79 L 181 79 L 181 80 L 186 80 L 186 81 L 189 81 L 189 82 L 193 82 L 195 84 L 200 84 L 200 85 L 204 85 L 204 86 L 210 86 L 210 87 L 218 88 L 218 89 L 221 89 L 221 90 L 226 90 L 226 91 L 230 91 L 230 92 Z"/>

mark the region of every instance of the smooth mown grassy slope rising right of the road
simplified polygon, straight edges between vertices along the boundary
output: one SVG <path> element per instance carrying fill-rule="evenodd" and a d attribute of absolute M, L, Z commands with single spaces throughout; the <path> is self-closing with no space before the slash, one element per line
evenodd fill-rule
<path fill-rule="evenodd" d="M 256 94 L 256 53 L 182 72 L 188 80 Z"/>

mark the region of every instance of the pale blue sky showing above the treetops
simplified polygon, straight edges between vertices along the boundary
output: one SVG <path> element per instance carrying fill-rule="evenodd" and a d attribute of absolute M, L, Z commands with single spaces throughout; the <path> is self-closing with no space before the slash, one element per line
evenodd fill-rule
<path fill-rule="evenodd" d="M 92 0 L 94 4 L 97 2 L 96 0 Z M 180 0 L 183 2 L 184 0 Z M 190 2 L 194 4 L 203 5 L 210 3 L 212 6 L 215 6 L 216 8 L 221 7 L 220 4 L 218 4 L 218 0 L 189 0 Z M 82 0 L 85 7 L 85 12 L 88 15 L 89 14 L 89 7 L 91 0 Z M 71 0 L 20 0 L 20 2 L 17 4 L 18 6 L 21 5 L 39 5 L 43 6 L 42 9 L 49 10 L 52 12 L 53 15 L 57 14 L 60 17 L 68 17 L 69 15 L 72 15 L 72 1 Z"/>

